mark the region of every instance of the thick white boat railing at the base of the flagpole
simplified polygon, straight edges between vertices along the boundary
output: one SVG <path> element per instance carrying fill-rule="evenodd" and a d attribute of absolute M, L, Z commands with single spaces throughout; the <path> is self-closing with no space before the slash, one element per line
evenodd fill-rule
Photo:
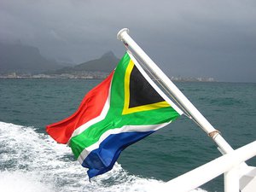
<path fill-rule="evenodd" d="M 207 183 L 215 177 L 221 174 L 225 174 L 224 177 L 224 191 L 225 192 L 239 192 L 240 191 L 240 177 L 247 175 L 247 170 L 254 171 L 256 168 L 249 166 L 241 166 L 241 163 L 256 156 L 256 141 L 249 143 L 241 148 L 238 148 L 229 154 L 224 154 L 218 157 L 216 160 L 212 160 L 207 164 L 197 167 L 194 170 L 187 172 L 179 177 L 172 179 L 171 181 L 164 183 L 159 191 L 173 191 L 173 192 L 188 192 L 190 190 L 199 188 L 202 184 Z M 240 173 L 242 175 L 240 176 Z M 251 176 L 250 188 L 253 190 L 247 190 L 251 192 L 256 191 L 256 174 Z M 252 183 L 254 179 L 254 183 Z M 248 180 L 248 179 L 247 179 Z M 246 182 L 246 181 L 245 181 Z M 241 183 L 243 188 L 248 183 Z"/>

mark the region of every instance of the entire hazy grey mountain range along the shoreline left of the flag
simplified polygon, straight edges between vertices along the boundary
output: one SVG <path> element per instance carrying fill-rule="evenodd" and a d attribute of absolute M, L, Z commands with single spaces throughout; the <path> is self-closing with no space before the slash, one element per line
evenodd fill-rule
<path fill-rule="evenodd" d="M 119 59 L 112 51 L 99 59 L 83 62 L 79 65 L 63 67 L 61 63 L 49 60 L 40 54 L 38 48 L 25 44 L 6 44 L 0 42 L 0 73 L 110 73 Z"/>

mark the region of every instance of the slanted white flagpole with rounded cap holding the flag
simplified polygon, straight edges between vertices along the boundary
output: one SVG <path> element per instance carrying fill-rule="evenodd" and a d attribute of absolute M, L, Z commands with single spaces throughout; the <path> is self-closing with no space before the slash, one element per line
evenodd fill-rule
<path fill-rule="evenodd" d="M 165 73 L 152 61 L 149 56 L 141 49 L 137 43 L 128 34 L 129 29 L 124 28 L 117 34 L 117 38 L 124 42 L 134 53 L 143 61 L 143 63 L 154 73 L 154 75 L 161 80 L 165 88 L 169 90 L 172 96 L 175 97 L 177 102 L 189 113 L 190 117 L 195 119 L 195 122 L 201 126 L 203 131 L 206 131 L 209 137 L 218 145 L 221 153 L 227 154 L 234 149 L 230 147 L 224 138 L 208 121 L 207 119 L 195 108 L 195 106 L 189 102 L 189 99 L 183 95 L 183 93 L 172 83 Z"/>

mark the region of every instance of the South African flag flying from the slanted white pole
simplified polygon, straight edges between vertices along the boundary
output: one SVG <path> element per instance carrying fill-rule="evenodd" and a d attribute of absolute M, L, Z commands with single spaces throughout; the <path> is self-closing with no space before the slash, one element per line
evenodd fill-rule
<path fill-rule="evenodd" d="M 72 116 L 47 125 L 46 131 L 69 144 L 91 178 L 111 170 L 122 150 L 182 113 L 126 52 Z"/>

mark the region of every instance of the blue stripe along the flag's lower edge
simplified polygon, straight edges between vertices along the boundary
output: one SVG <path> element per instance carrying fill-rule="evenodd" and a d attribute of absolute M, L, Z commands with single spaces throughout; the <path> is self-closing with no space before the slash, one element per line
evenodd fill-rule
<path fill-rule="evenodd" d="M 90 178 L 108 172 L 113 168 L 122 150 L 153 132 L 122 132 L 110 135 L 100 144 L 99 148 L 88 154 L 82 166 L 89 168 L 87 173 Z"/>

